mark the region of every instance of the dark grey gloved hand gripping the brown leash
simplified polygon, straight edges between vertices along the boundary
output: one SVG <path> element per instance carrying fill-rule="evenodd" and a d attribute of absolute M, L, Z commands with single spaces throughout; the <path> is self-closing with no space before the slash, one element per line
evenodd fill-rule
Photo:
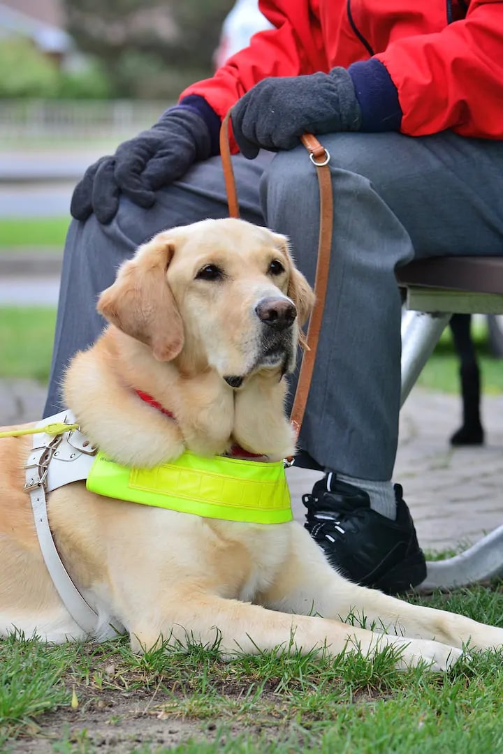
<path fill-rule="evenodd" d="M 351 76 L 345 68 L 307 76 L 264 78 L 232 108 L 232 130 L 244 157 L 259 149 L 293 149 L 302 133 L 357 131 L 361 125 Z"/>

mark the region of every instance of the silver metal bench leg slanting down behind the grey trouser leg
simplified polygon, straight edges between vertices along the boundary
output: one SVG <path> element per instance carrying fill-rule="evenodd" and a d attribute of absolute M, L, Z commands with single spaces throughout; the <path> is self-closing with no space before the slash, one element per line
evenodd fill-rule
<path fill-rule="evenodd" d="M 451 314 L 404 311 L 402 315 L 402 389 L 400 406 L 416 384 Z"/>

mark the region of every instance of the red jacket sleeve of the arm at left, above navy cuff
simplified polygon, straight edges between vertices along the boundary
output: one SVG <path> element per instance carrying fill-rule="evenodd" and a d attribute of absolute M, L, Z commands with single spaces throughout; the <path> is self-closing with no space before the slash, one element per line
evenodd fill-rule
<path fill-rule="evenodd" d="M 327 72 L 319 20 L 308 0 L 262 0 L 259 7 L 275 29 L 253 35 L 249 47 L 229 58 L 212 78 L 189 86 L 180 100 L 194 94 L 204 97 L 223 118 L 262 78 Z"/>

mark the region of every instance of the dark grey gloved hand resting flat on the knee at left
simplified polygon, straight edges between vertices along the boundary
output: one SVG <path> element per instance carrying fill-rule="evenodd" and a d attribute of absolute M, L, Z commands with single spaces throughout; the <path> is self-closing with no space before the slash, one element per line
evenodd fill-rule
<path fill-rule="evenodd" d="M 87 220 L 94 212 L 106 224 L 117 212 L 121 192 L 140 207 L 152 207 L 161 186 L 210 155 L 210 131 L 203 118 L 192 109 L 173 107 L 155 126 L 119 145 L 115 155 L 87 168 L 73 192 L 70 212 L 77 220 Z"/>

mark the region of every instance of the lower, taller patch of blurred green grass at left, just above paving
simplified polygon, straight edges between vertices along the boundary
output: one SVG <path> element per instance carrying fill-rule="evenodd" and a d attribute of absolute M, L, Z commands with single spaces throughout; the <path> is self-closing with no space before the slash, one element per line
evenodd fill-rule
<path fill-rule="evenodd" d="M 47 382 L 55 323 L 54 308 L 0 307 L 0 377 Z"/>

